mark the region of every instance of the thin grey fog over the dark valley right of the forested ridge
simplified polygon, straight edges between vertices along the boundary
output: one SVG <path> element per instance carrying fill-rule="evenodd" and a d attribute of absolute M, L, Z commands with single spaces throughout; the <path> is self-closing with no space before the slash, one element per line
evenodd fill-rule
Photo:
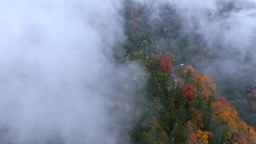
<path fill-rule="evenodd" d="M 137 1 L 153 9 L 152 20 L 161 20 L 163 5 L 176 10 L 183 21 L 182 32 L 192 39 L 201 38 L 200 45 L 186 48 L 195 53 L 203 51 L 198 57 L 187 54 L 189 63 L 210 75 L 220 94 L 232 100 L 239 116 L 256 126 L 248 98 L 256 86 L 256 0 Z"/>

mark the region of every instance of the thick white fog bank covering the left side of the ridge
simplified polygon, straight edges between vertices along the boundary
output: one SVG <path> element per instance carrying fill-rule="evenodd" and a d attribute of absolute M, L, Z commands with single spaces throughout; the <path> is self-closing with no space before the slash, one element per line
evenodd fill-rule
<path fill-rule="evenodd" d="M 1 144 L 120 144 L 135 91 L 120 83 L 139 74 L 111 59 L 125 39 L 120 9 L 118 0 L 0 1 Z"/>

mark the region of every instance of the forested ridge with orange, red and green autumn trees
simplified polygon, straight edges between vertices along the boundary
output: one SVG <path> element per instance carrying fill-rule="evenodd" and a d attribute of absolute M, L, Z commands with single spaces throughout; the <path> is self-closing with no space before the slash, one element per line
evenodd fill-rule
<path fill-rule="evenodd" d="M 194 68 L 201 59 L 218 57 L 201 49 L 201 36 L 185 33 L 186 22 L 170 5 L 163 5 L 157 18 L 146 4 L 125 0 L 123 5 L 127 40 L 115 58 L 139 62 L 148 81 L 138 88 L 146 100 L 137 100 L 122 143 L 256 144 L 255 128 L 239 117 L 210 76 Z M 177 71 L 184 84 L 175 86 L 172 65 L 184 61 L 188 64 Z M 248 91 L 255 108 L 256 91 Z"/>

